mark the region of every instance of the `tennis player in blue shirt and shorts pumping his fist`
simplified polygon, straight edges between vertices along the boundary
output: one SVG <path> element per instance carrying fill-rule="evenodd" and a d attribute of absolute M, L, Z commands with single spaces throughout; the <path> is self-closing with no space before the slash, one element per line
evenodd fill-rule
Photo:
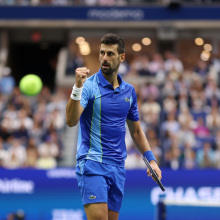
<path fill-rule="evenodd" d="M 139 151 L 161 179 L 161 170 L 139 123 L 134 87 L 118 74 L 125 60 L 124 40 L 116 34 L 101 39 L 101 69 L 76 69 L 76 82 L 66 106 L 66 123 L 79 123 L 76 174 L 88 220 L 117 220 L 125 184 L 125 123 Z M 150 176 L 149 170 L 147 170 Z"/>

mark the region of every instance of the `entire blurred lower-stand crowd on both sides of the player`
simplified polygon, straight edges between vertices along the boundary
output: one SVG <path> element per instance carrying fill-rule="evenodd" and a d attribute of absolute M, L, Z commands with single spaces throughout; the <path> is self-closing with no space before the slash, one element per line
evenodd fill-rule
<path fill-rule="evenodd" d="M 140 54 L 119 73 L 128 81 L 141 78 L 132 83 L 140 122 L 161 167 L 220 168 L 220 59 L 185 68 L 172 52 Z M 0 85 L 7 77 L 6 71 Z M 0 93 L 0 166 L 56 167 L 65 144 L 67 94 L 44 87 L 40 95 L 27 97 L 10 88 Z M 126 167 L 145 168 L 129 132 L 126 145 Z"/>

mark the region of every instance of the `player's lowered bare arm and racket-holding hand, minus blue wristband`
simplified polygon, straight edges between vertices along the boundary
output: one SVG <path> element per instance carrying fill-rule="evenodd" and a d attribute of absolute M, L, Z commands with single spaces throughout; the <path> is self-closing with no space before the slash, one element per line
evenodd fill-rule
<path fill-rule="evenodd" d="M 140 122 L 139 121 L 131 121 L 127 119 L 127 124 L 128 124 L 128 128 L 131 134 L 131 137 L 136 145 L 136 147 L 138 148 L 138 150 L 144 154 L 147 151 L 151 151 L 150 145 L 148 143 L 148 140 L 141 128 Z M 151 160 L 149 161 L 152 168 L 155 170 L 157 176 L 159 179 L 162 178 L 161 175 L 161 170 L 158 167 L 156 161 Z M 149 169 L 147 170 L 147 174 L 148 176 L 150 176 L 150 171 Z"/>

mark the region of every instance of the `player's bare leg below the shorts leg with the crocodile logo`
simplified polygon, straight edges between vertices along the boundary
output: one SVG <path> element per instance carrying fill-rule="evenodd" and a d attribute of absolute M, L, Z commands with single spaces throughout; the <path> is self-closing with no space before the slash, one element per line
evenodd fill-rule
<path fill-rule="evenodd" d="M 84 205 L 84 209 L 88 220 L 108 220 L 107 203 L 87 204 Z"/>

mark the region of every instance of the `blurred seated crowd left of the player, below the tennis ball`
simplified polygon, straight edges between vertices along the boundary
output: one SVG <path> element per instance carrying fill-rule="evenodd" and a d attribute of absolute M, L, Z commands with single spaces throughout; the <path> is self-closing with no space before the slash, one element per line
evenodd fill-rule
<path fill-rule="evenodd" d="M 3 72 L 0 85 L 11 77 Z M 57 167 L 64 149 L 65 93 L 51 93 L 45 86 L 39 95 L 28 97 L 15 85 L 11 90 L 3 88 L 0 86 L 0 167 Z"/>

